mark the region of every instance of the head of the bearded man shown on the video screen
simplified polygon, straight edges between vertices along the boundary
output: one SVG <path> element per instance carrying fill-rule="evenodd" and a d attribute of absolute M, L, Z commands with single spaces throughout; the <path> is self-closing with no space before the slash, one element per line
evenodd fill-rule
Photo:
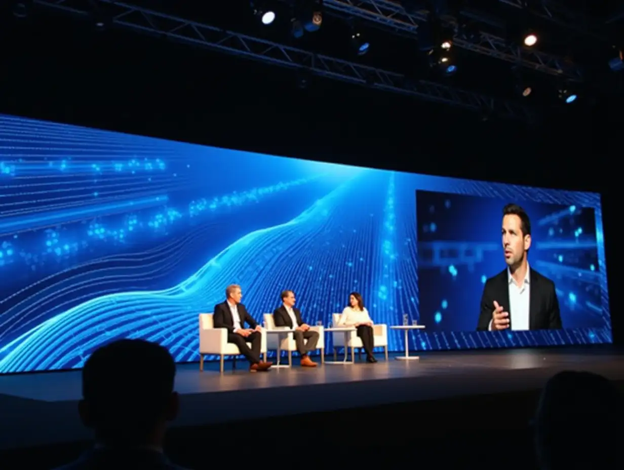
<path fill-rule="evenodd" d="M 505 263 L 510 268 L 521 265 L 531 247 L 531 222 L 529 215 L 516 204 L 507 204 L 503 208 L 503 222 L 500 229 Z"/>

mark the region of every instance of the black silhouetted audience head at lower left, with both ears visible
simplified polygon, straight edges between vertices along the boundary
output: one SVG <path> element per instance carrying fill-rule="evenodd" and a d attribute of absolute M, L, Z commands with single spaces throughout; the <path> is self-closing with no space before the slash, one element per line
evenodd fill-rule
<path fill-rule="evenodd" d="M 178 413 L 175 362 L 156 343 L 119 340 L 94 351 L 82 370 L 79 413 L 107 446 L 161 446 Z"/>

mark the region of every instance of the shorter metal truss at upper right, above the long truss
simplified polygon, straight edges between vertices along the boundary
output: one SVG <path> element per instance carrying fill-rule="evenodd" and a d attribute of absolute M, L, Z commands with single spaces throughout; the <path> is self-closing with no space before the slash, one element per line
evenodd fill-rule
<path fill-rule="evenodd" d="M 390 0 L 324 0 L 327 9 L 339 11 L 349 16 L 356 16 L 367 21 L 376 22 L 390 29 L 416 37 L 418 24 L 427 21 L 427 12 L 407 14 L 401 4 Z M 473 14 L 474 16 L 474 14 Z M 457 20 L 450 16 L 442 16 L 442 21 L 449 26 L 459 26 Z M 580 81 L 580 69 L 574 64 L 545 52 L 535 51 L 526 47 L 513 46 L 505 39 L 481 32 L 475 42 L 466 41 L 460 37 L 453 40 L 453 44 L 468 51 L 484 54 L 512 64 L 521 64 L 524 67 L 557 77 L 567 77 Z"/>

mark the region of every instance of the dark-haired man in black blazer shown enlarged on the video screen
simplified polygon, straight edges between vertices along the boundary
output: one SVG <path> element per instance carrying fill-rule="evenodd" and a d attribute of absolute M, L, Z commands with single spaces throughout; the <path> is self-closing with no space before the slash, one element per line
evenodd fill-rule
<path fill-rule="evenodd" d="M 529 266 L 531 222 L 519 205 L 503 208 L 501 237 L 507 267 L 485 282 L 477 330 L 562 328 L 555 283 Z"/>

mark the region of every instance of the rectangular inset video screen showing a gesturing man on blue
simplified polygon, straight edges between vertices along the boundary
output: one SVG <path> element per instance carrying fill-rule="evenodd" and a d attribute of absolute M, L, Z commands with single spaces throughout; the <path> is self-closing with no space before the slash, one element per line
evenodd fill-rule
<path fill-rule="evenodd" d="M 505 333 L 550 330 L 541 334 L 556 337 L 587 330 L 587 340 L 594 339 L 595 329 L 610 324 L 602 300 L 596 209 L 514 203 L 507 212 L 526 213 L 528 246 L 522 218 L 504 214 L 509 198 L 416 192 L 422 323 L 439 331 L 495 330 L 489 322 L 496 301 L 502 311 L 511 310 Z M 511 279 L 514 258 L 521 261 L 523 251 L 529 271 L 524 300 L 515 292 L 522 285 Z M 481 311 L 487 311 L 487 322 L 479 327 Z"/>

